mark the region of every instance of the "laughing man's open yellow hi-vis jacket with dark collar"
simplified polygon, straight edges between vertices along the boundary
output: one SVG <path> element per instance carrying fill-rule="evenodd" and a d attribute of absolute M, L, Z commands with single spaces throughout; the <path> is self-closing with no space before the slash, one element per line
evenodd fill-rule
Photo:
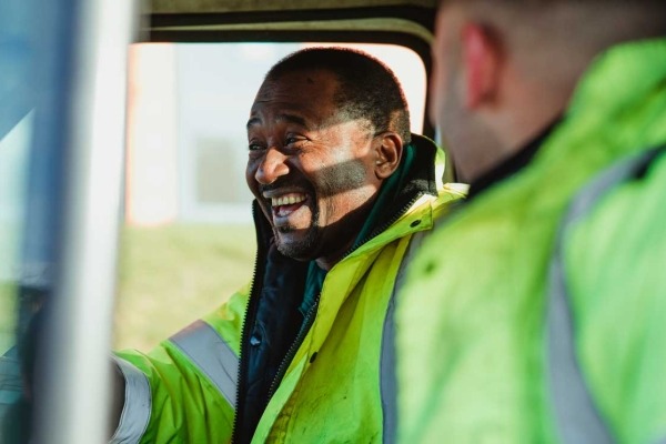
<path fill-rule="evenodd" d="M 393 411 L 383 405 L 394 383 L 393 344 L 384 341 L 392 337 L 394 283 L 413 234 L 428 230 L 462 195 L 435 180 L 432 142 L 417 138 L 415 151 L 414 171 L 389 223 L 326 274 L 310 327 L 283 363 L 253 443 L 381 442 L 394 425 Z M 127 391 L 114 442 L 224 443 L 232 434 L 234 442 L 250 441 L 234 431 L 234 416 L 246 401 L 243 350 L 258 341 L 243 329 L 244 319 L 256 317 L 264 285 L 266 245 L 258 238 L 251 284 L 152 352 L 118 354 Z"/>

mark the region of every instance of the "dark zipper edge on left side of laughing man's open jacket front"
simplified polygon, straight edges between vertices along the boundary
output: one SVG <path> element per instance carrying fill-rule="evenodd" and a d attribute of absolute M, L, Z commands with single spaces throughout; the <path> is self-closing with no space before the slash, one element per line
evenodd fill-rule
<path fill-rule="evenodd" d="M 252 205 L 252 219 L 255 221 L 256 226 L 256 209 L 255 205 Z M 260 230 L 256 230 L 256 256 L 254 258 L 254 270 L 252 272 L 252 286 L 250 287 L 250 296 L 248 299 L 248 307 L 245 309 L 245 313 L 243 313 L 243 329 L 241 332 L 241 346 L 239 351 L 239 376 L 236 383 L 236 405 L 235 405 L 235 414 L 233 417 L 233 428 L 231 433 L 231 442 L 235 443 L 238 441 L 239 434 L 239 425 L 240 425 L 240 413 L 242 412 L 243 398 L 241 397 L 241 387 L 246 384 L 245 376 L 248 374 L 248 360 L 243 360 L 243 355 L 246 354 L 249 336 L 250 336 L 250 325 L 254 324 L 254 317 L 256 315 L 256 301 L 258 301 L 258 289 L 261 289 L 263 283 L 264 275 L 264 266 L 265 261 L 263 261 L 260 265 L 260 258 L 265 258 L 265 242 L 260 239 L 261 233 Z M 261 273 L 260 273 L 261 272 Z M 259 282 L 258 282 L 258 276 Z M 251 314 L 250 314 L 251 313 Z M 250 316 L 249 316 L 250 314 Z"/>

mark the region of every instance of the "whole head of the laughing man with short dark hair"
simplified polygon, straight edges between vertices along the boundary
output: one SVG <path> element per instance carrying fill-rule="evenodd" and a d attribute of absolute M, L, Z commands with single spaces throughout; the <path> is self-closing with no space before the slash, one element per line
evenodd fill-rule
<path fill-rule="evenodd" d="M 377 60 L 314 48 L 273 67 L 248 121 L 246 179 L 280 251 L 335 264 L 410 138 L 404 94 Z"/>

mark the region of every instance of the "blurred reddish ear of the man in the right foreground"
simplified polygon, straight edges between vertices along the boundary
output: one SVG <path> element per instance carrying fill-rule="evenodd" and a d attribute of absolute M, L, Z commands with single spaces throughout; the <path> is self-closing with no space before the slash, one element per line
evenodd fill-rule
<path fill-rule="evenodd" d="M 480 23 L 467 23 L 461 33 L 464 64 L 465 105 L 476 109 L 492 102 L 497 93 L 501 46 L 495 36 Z"/>

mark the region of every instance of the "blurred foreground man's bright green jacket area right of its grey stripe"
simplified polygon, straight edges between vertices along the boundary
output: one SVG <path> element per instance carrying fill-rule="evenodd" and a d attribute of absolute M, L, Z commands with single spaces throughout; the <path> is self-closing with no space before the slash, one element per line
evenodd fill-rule
<path fill-rule="evenodd" d="M 576 349 L 618 443 L 666 442 L 666 155 L 565 240 Z"/>

